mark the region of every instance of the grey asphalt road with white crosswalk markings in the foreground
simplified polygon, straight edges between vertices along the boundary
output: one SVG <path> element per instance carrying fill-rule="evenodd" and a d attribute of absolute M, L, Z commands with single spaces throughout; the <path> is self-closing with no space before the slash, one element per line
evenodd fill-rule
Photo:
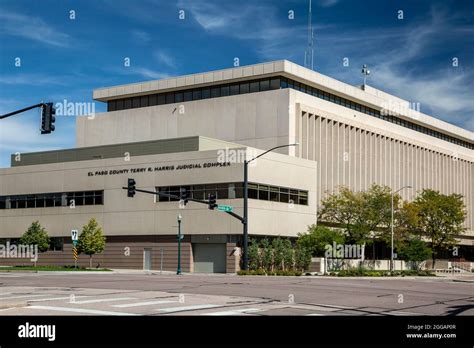
<path fill-rule="evenodd" d="M 474 315 L 473 281 L 0 273 L 0 315 Z"/>

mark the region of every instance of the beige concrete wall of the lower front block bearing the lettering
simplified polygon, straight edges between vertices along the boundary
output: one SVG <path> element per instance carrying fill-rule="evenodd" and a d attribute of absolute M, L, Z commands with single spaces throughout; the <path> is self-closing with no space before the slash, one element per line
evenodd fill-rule
<path fill-rule="evenodd" d="M 104 205 L 26 208 L 0 210 L 0 237 L 19 237 L 35 220 L 50 236 L 69 236 L 71 229 L 82 229 L 95 217 L 106 235 L 174 235 L 176 216 L 183 216 L 183 231 L 188 234 L 242 234 L 242 224 L 231 216 L 210 211 L 206 205 L 189 203 L 179 209 L 177 202 L 155 203 L 155 197 L 137 193 L 128 198 L 123 186 L 127 178 L 137 188 L 154 190 L 156 186 L 242 182 L 242 163 L 217 168 L 143 172 L 89 176 L 102 170 L 148 168 L 163 165 L 215 163 L 218 152 L 186 152 L 93 161 L 54 163 L 0 169 L 0 195 L 27 193 L 104 190 Z M 316 163 L 269 153 L 250 167 L 249 180 L 262 184 L 309 191 L 309 205 L 250 200 L 249 233 L 296 236 L 316 222 Z M 242 215 L 242 199 L 219 200 L 235 207 Z"/>

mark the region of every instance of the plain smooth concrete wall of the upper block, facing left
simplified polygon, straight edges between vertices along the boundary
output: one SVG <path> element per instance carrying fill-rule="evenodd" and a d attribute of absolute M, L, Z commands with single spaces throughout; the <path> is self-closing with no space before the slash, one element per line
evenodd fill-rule
<path fill-rule="evenodd" d="M 93 119 L 78 117 L 76 144 L 84 147 L 200 135 L 269 149 L 288 143 L 288 103 L 286 89 L 113 111 Z M 288 149 L 279 152 L 288 153 Z"/>

